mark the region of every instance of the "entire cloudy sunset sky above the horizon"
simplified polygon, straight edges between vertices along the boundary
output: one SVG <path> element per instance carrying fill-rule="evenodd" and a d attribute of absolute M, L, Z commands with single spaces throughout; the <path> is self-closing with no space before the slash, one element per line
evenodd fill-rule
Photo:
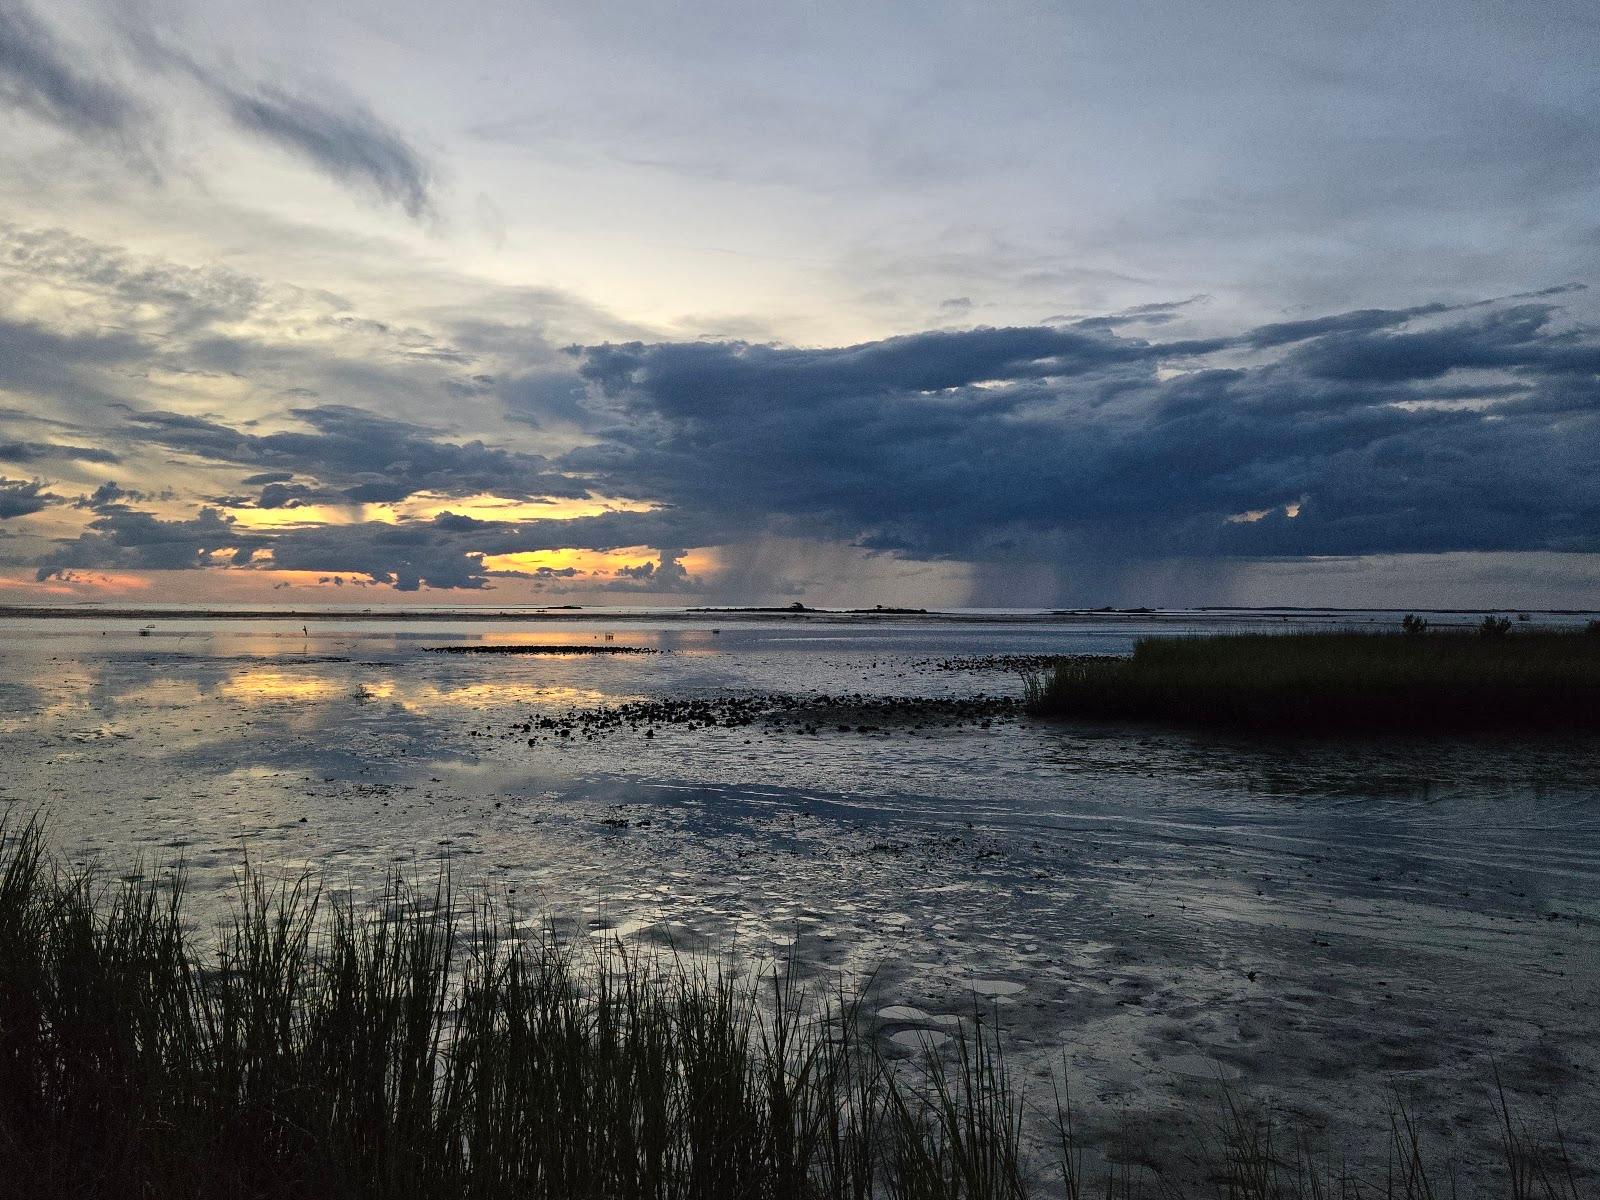
<path fill-rule="evenodd" d="M 1597 61 L 0 0 L 0 603 L 1600 606 Z"/>

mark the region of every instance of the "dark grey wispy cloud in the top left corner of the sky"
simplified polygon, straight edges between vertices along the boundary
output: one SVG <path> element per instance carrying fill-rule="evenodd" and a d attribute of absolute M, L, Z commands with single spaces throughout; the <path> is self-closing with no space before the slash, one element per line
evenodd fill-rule
<path fill-rule="evenodd" d="M 75 54 L 18 0 L 0 0 L 0 99 L 88 139 L 128 138 L 142 107 Z"/>

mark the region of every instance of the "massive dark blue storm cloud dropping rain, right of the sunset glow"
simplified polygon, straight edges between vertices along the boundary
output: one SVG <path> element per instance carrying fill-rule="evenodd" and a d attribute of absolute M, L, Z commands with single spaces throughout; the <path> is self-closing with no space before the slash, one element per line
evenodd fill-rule
<path fill-rule="evenodd" d="M 1550 304 L 1211 342 L 1085 325 L 843 350 L 590 347 L 582 373 L 630 419 L 558 466 L 910 557 L 1059 539 L 1126 557 L 1600 549 L 1600 336 Z M 1158 370 L 1262 347 L 1286 352 Z"/>

